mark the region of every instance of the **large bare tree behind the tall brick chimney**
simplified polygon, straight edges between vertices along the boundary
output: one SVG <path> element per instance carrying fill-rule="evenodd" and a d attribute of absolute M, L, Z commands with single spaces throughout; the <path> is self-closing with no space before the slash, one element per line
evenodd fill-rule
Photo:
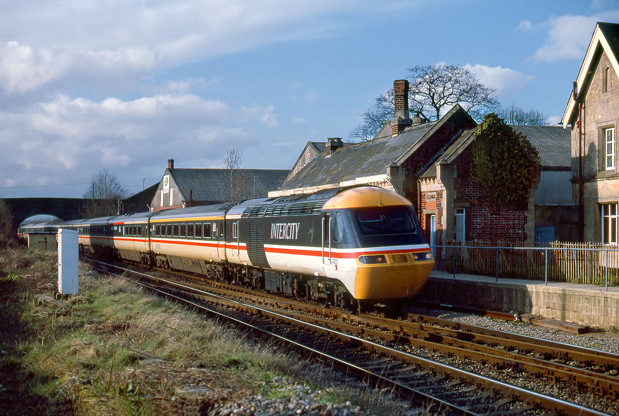
<path fill-rule="evenodd" d="M 441 112 L 460 104 L 477 121 L 499 108 L 495 90 L 483 85 L 475 74 L 462 66 L 430 65 L 409 68 L 409 116 L 415 113 L 438 120 Z M 394 92 L 387 90 L 365 111 L 363 123 L 352 129 L 350 137 L 369 140 L 395 115 Z"/>

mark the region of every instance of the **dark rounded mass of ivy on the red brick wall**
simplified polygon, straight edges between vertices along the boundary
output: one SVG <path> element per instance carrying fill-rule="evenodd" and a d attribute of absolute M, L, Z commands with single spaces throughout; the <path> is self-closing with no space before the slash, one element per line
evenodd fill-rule
<path fill-rule="evenodd" d="M 475 129 L 471 174 L 495 206 L 526 209 L 540 170 L 539 155 L 527 136 L 490 113 Z"/>

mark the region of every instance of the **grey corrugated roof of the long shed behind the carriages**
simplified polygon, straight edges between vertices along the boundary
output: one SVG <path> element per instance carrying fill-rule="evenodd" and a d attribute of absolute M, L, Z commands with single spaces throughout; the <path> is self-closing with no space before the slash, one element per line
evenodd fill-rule
<path fill-rule="evenodd" d="M 185 199 L 189 190 L 194 202 L 225 202 L 230 197 L 229 169 L 187 169 L 168 168 L 174 183 Z M 251 197 L 267 196 L 268 191 L 284 183 L 288 170 L 281 169 L 237 169 L 242 175 Z"/>

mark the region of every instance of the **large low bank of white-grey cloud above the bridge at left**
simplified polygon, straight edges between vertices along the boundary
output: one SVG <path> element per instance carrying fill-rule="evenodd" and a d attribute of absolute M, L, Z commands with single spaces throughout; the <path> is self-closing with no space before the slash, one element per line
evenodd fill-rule
<path fill-rule="evenodd" d="M 142 178 L 142 167 L 158 173 L 157 161 L 170 157 L 221 160 L 230 147 L 258 142 L 258 124 L 278 125 L 272 105 L 232 108 L 191 94 L 98 102 L 58 95 L 24 113 L 0 112 L 0 124 L 0 145 L 11 155 L 0 165 L 4 186 L 88 181 L 102 168 Z"/>

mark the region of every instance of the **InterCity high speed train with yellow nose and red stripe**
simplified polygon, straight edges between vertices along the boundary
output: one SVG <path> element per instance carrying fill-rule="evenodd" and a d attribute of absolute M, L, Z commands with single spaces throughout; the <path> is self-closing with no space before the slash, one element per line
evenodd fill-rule
<path fill-rule="evenodd" d="M 377 186 L 69 221 L 80 250 L 331 305 L 415 295 L 434 265 L 410 201 Z"/>

